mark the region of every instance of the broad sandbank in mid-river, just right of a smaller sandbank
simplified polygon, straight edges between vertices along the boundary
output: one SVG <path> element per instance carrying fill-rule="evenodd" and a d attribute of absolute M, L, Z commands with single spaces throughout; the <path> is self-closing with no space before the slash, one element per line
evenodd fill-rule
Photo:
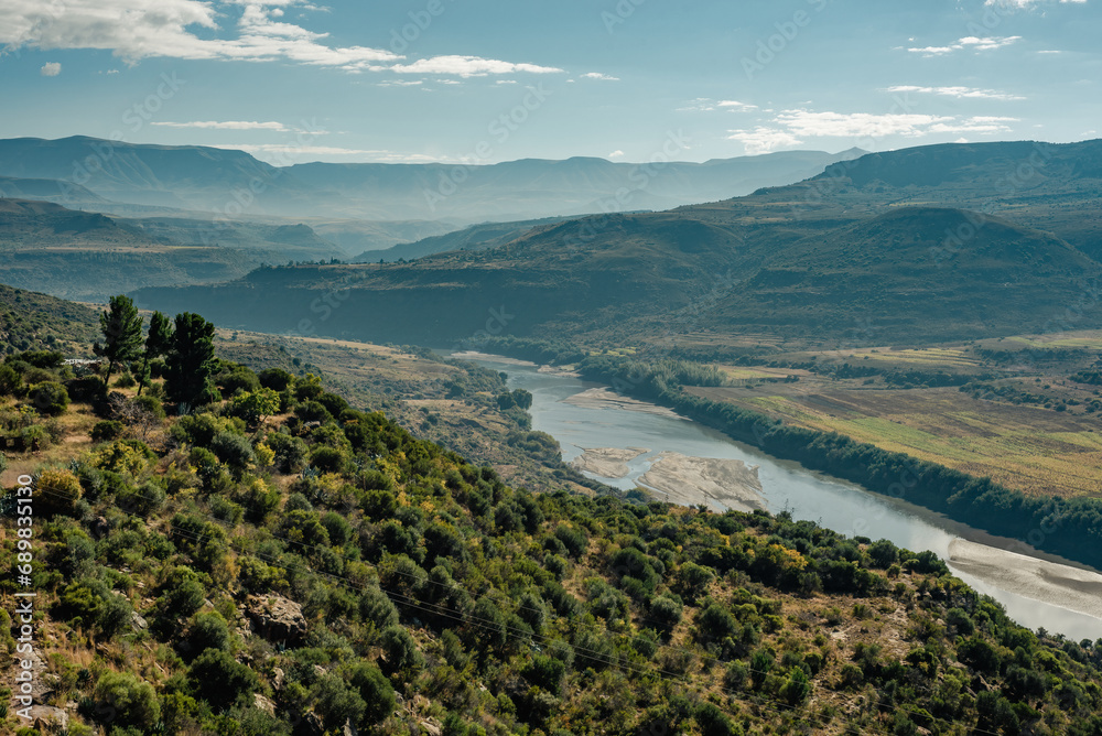
<path fill-rule="evenodd" d="M 681 506 L 715 502 L 738 511 L 765 509 L 757 465 L 737 459 L 662 453 L 639 483 L 655 496 Z"/>

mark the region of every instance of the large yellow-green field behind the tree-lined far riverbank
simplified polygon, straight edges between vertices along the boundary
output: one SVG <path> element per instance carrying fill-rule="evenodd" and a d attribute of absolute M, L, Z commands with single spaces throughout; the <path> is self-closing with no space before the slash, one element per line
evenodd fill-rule
<path fill-rule="evenodd" d="M 787 388 L 787 387 L 786 387 Z M 1102 495 L 1102 422 L 976 400 L 955 389 L 690 389 L 792 424 L 839 432 L 1030 494 Z"/>

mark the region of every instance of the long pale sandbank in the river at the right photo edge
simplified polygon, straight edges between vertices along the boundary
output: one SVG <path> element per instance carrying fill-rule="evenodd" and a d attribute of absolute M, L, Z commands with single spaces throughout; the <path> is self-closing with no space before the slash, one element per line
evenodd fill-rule
<path fill-rule="evenodd" d="M 955 539 L 949 564 L 1026 598 L 1102 619 L 1102 575 Z"/>

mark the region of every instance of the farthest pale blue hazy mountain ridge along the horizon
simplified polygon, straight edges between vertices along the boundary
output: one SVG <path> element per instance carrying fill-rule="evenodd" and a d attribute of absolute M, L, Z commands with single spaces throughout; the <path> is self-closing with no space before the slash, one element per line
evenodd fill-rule
<path fill-rule="evenodd" d="M 453 218 L 472 224 L 725 199 L 813 176 L 858 153 L 786 151 L 705 163 L 628 164 L 575 158 L 491 165 L 277 167 L 231 149 L 74 136 L 0 140 L 0 176 L 72 182 L 118 203 L 229 217 Z"/>

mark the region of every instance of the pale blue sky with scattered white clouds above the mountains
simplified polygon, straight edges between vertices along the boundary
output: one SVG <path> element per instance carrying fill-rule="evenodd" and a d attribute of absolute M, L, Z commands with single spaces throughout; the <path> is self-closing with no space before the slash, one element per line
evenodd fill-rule
<path fill-rule="evenodd" d="M 0 0 L 0 138 L 705 161 L 1102 136 L 1102 0 Z"/>

